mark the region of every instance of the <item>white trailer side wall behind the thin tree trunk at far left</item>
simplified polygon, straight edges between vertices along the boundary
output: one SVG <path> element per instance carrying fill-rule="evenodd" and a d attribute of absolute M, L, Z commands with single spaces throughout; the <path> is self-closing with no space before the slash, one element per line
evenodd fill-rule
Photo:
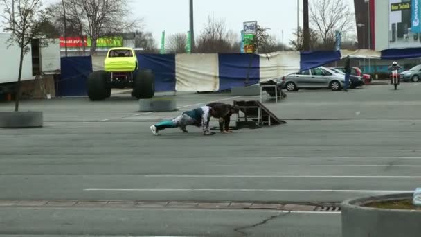
<path fill-rule="evenodd" d="M 16 45 L 8 47 L 9 35 L 7 33 L 0 33 L 0 84 L 16 82 L 19 76 L 20 49 Z M 33 79 L 32 56 L 29 52 L 24 56 L 22 80 L 31 79 Z"/>

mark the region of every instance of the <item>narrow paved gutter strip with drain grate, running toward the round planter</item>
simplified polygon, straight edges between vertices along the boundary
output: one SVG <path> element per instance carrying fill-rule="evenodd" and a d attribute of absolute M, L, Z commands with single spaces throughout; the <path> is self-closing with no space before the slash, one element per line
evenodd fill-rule
<path fill-rule="evenodd" d="M 331 206 L 332 204 L 326 204 Z M 322 204 L 262 202 L 143 202 L 143 201 L 82 201 L 82 200 L 0 200 L 1 207 L 37 208 L 166 208 L 166 209 L 248 209 L 274 211 L 325 211 Z M 329 212 L 338 212 L 337 210 Z"/>

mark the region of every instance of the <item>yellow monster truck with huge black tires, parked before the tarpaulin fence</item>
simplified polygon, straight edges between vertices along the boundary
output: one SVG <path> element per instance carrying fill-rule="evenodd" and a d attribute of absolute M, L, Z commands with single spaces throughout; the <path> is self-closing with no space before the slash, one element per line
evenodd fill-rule
<path fill-rule="evenodd" d="M 133 88 L 132 96 L 138 99 L 154 96 L 154 74 L 139 70 L 133 49 L 109 49 L 104 68 L 105 71 L 94 71 L 88 77 L 89 99 L 105 100 L 111 96 L 111 88 Z"/>

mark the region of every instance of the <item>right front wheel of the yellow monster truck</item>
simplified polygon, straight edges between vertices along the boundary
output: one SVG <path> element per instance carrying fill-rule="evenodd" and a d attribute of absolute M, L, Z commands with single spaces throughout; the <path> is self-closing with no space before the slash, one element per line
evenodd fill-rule
<path fill-rule="evenodd" d="M 132 95 L 138 99 L 154 97 L 155 76 L 151 70 L 139 70 L 136 80 L 134 80 Z"/>

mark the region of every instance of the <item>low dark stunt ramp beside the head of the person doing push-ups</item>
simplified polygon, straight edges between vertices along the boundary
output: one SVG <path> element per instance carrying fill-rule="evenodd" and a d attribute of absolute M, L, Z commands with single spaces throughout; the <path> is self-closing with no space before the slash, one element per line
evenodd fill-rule
<path fill-rule="evenodd" d="M 271 126 L 287 123 L 279 119 L 259 100 L 234 101 L 234 105 L 240 108 L 237 119 L 238 124 L 254 123 L 257 126 Z M 244 116 L 241 116 L 241 114 L 244 114 Z"/>

